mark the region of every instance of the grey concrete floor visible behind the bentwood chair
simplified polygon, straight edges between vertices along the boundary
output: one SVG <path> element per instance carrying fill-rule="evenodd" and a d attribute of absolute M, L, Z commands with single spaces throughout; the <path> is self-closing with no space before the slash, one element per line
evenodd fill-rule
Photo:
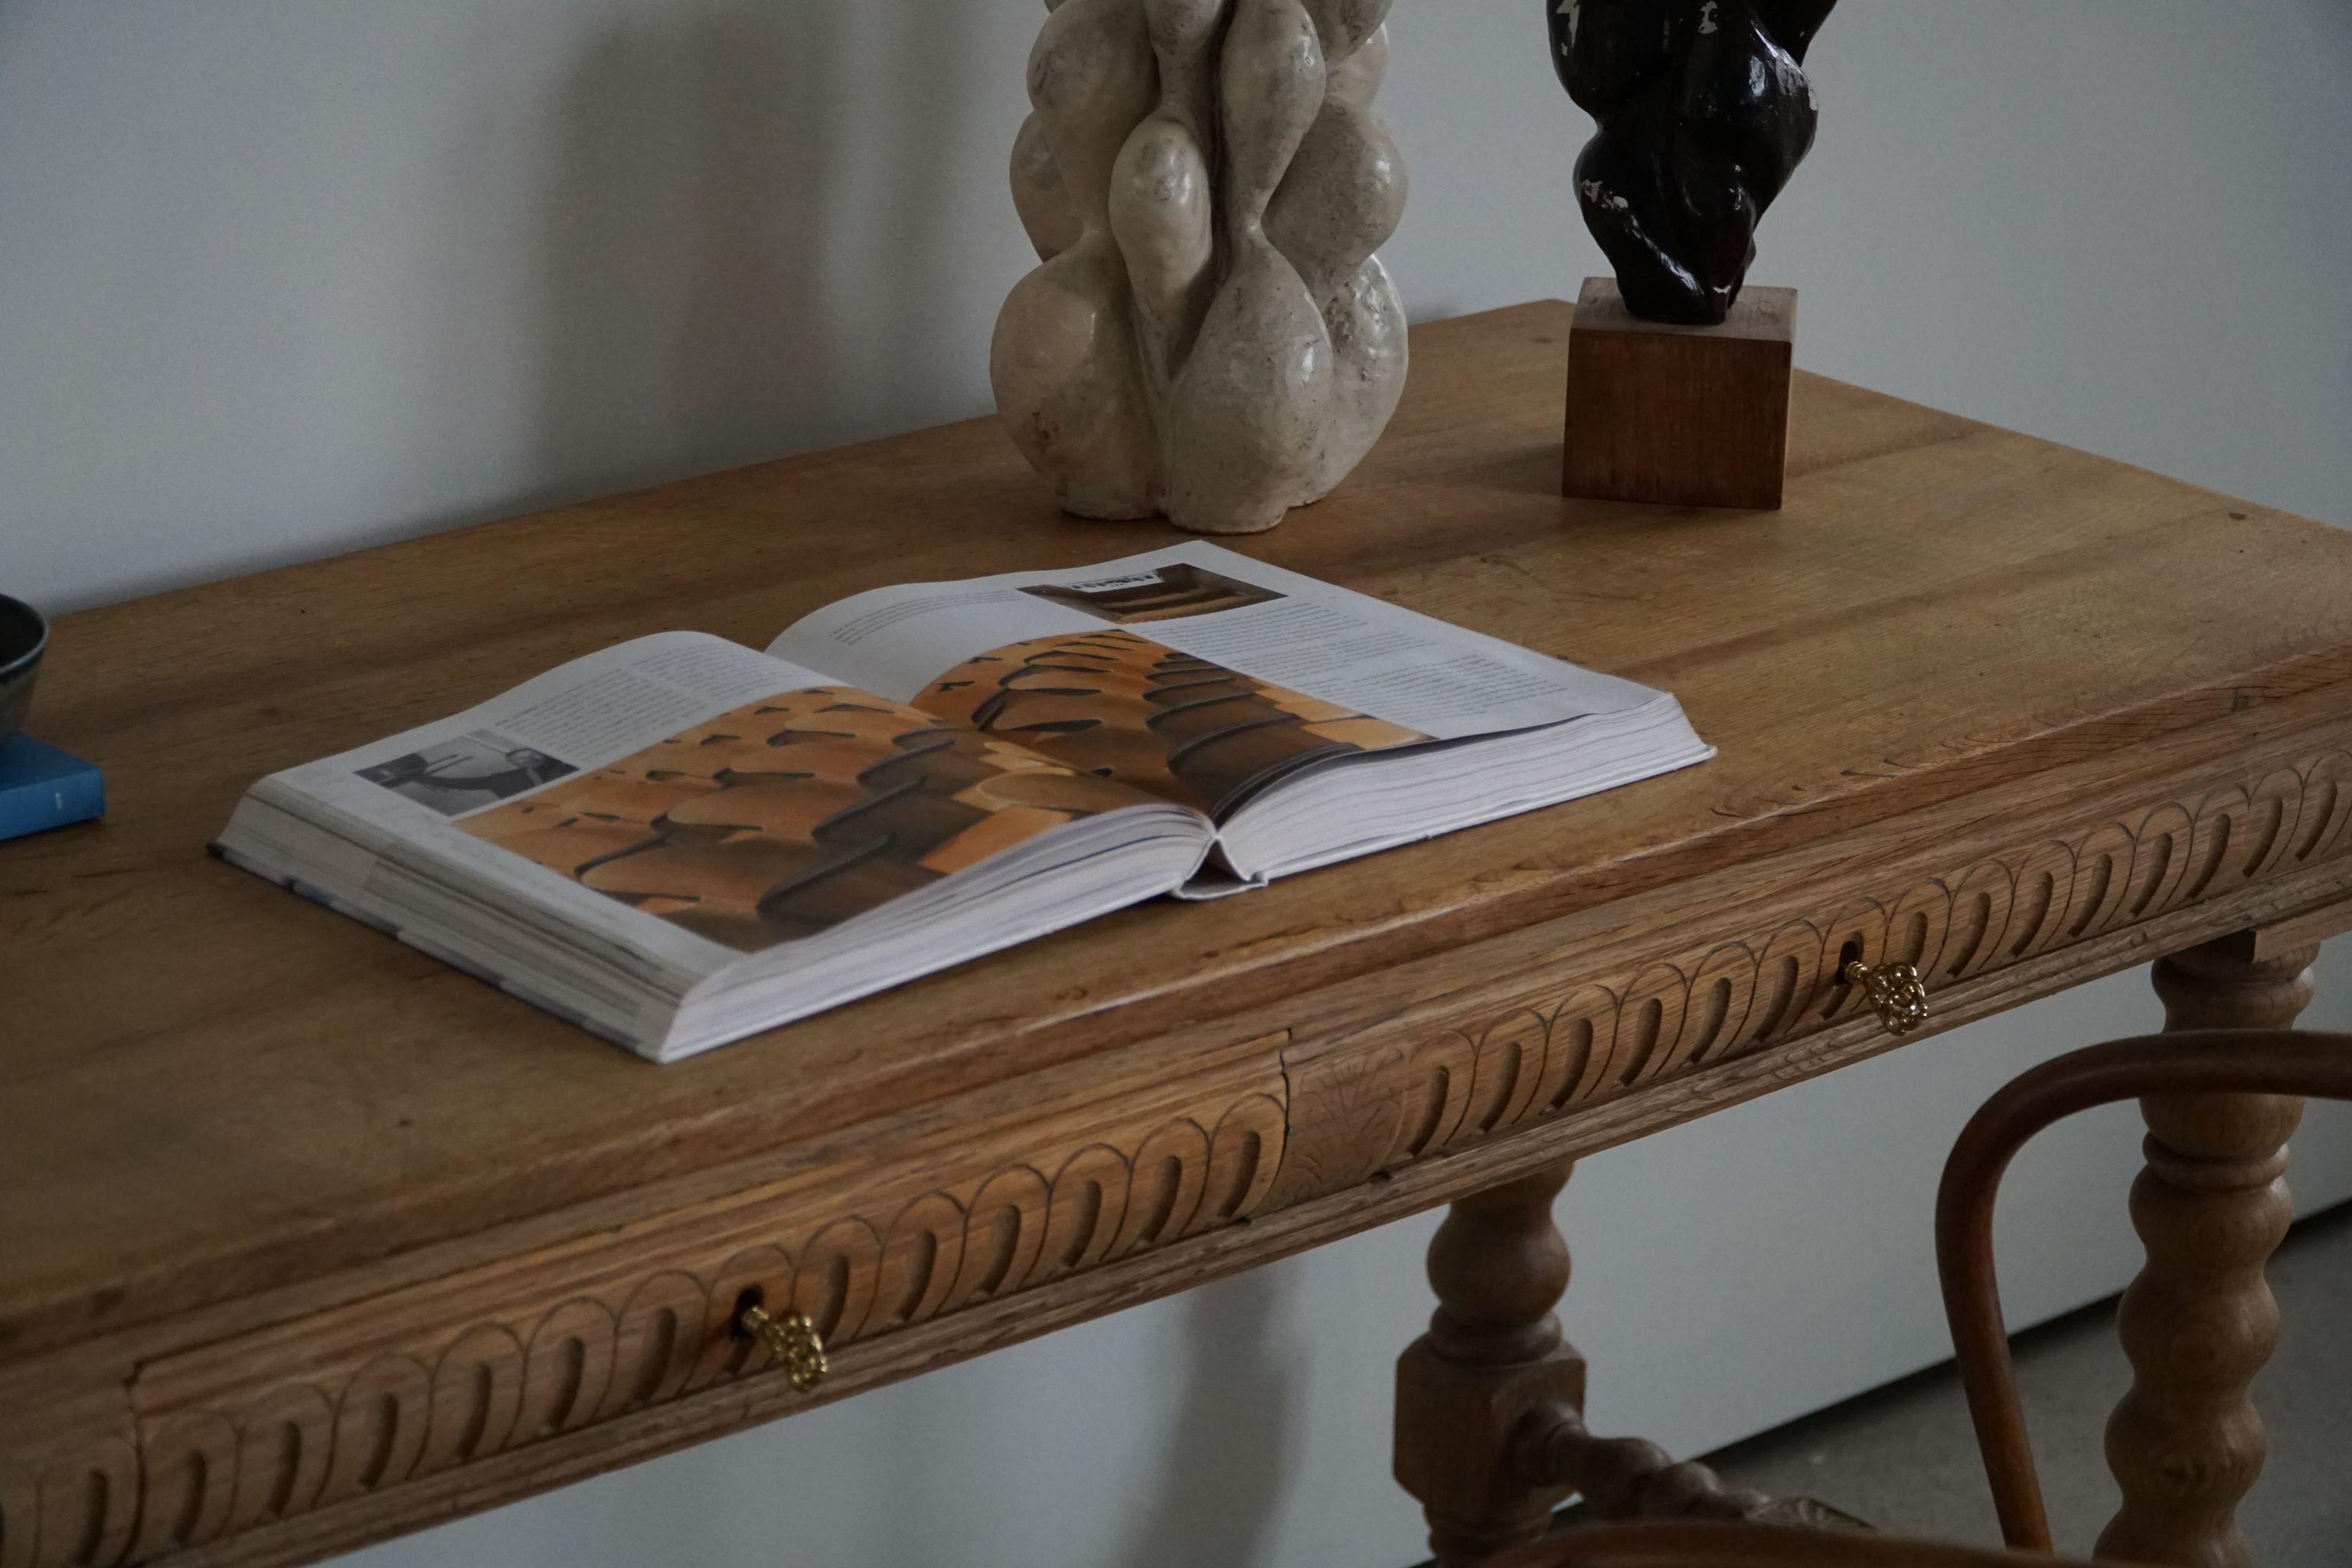
<path fill-rule="evenodd" d="M 2345 1568 L 2352 1563 L 2352 1208 L 2298 1225 L 2272 1260 L 2270 1281 L 2286 1314 L 2279 1356 L 2256 1385 L 2270 1425 L 2270 1465 L 2239 1523 L 2263 1568 Z M 2100 1434 L 2129 1385 L 2112 1302 L 2018 1340 L 2018 1387 L 2060 1552 L 2089 1552 L 2114 1512 Z M 1820 1497 L 1889 1535 L 1999 1544 L 1950 1366 L 1766 1432 L 1712 1455 L 1710 1465 L 1776 1497 Z"/>

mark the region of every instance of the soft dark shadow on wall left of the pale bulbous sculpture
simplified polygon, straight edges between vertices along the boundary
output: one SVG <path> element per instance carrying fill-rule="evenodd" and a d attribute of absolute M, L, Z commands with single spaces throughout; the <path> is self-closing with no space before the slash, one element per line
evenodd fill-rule
<path fill-rule="evenodd" d="M 941 169 L 988 92 L 974 26 L 779 0 L 583 52 L 529 280 L 541 475 L 593 494 L 823 447 L 887 418 L 861 397 L 934 378 L 924 306 L 957 261 Z M 896 108 L 858 92 L 861 61 Z"/>

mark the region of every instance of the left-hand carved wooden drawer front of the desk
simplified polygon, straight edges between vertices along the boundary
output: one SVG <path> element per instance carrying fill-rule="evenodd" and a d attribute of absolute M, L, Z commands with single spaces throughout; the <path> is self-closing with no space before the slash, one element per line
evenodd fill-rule
<path fill-rule="evenodd" d="M 774 1375 L 746 1293 L 835 1352 L 1249 1218 L 1282 1161 L 1279 1039 L 1221 1077 L 849 1143 L 802 1180 L 626 1225 L 141 1368 L 148 1561 Z M 0 1495 L 5 1507 L 5 1495 Z M 9 1519 L 14 1526 L 14 1519 Z M 0 1559 L 14 1568 L 14 1559 Z"/>

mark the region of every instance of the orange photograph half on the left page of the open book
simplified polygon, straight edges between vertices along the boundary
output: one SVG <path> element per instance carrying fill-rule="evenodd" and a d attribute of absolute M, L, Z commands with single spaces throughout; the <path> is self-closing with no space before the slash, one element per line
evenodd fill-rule
<path fill-rule="evenodd" d="M 816 936 L 1049 827 L 1134 806 L 1098 776 L 863 691 L 736 708 L 459 823 L 741 952 Z"/>

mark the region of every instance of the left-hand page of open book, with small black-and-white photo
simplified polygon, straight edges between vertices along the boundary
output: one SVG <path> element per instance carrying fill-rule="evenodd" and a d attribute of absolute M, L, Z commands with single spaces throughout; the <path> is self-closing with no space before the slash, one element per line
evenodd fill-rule
<path fill-rule="evenodd" d="M 1063 823 L 1155 804 L 694 632 L 259 790 L 699 969 L 713 947 L 814 936 Z"/>

